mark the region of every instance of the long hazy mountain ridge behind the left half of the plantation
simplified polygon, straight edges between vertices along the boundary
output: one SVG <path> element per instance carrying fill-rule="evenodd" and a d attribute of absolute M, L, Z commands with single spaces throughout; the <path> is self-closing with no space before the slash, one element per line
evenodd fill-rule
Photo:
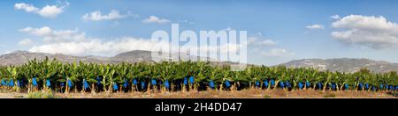
<path fill-rule="evenodd" d="M 142 50 L 134 50 L 126 53 L 117 54 L 113 57 L 103 57 L 96 55 L 87 55 L 87 56 L 73 56 L 67 54 L 46 54 L 46 53 L 34 53 L 27 51 L 15 51 L 10 54 L 2 54 L 0 55 L 0 66 L 8 66 L 8 65 L 21 65 L 28 61 L 34 60 L 36 58 L 39 61 L 44 60 L 49 57 L 50 59 L 56 58 L 61 62 L 93 62 L 93 63 L 103 63 L 103 64 L 114 64 L 120 62 L 155 62 L 152 60 L 152 55 L 150 51 L 142 51 Z M 168 61 L 169 59 L 177 60 L 180 59 L 182 61 L 195 61 L 198 57 L 188 54 L 172 54 L 172 57 L 167 56 L 166 54 L 161 54 L 155 57 L 154 59 L 161 59 L 163 61 Z M 217 62 L 217 60 L 210 59 L 210 62 Z"/>

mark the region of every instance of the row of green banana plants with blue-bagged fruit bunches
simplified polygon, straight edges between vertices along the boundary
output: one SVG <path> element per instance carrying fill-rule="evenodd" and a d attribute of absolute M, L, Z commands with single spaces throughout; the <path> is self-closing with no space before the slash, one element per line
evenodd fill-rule
<path fill-rule="evenodd" d="M 396 91 L 396 72 L 355 73 L 249 66 L 232 71 L 210 62 L 137 62 L 119 64 L 63 63 L 33 60 L 0 68 L 0 89 L 5 91 L 165 92 L 240 91 Z"/>

